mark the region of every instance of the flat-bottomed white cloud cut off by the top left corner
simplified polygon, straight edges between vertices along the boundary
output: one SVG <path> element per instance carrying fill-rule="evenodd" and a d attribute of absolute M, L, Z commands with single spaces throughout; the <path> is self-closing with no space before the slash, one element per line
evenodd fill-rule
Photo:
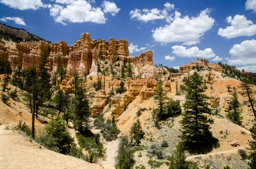
<path fill-rule="evenodd" d="M 0 3 L 3 3 L 6 6 L 14 9 L 26 10 L 33 9 L 37 10 L 41 7 L 47 7 L 42 3 L 41 0 L 0 0 Z"/>

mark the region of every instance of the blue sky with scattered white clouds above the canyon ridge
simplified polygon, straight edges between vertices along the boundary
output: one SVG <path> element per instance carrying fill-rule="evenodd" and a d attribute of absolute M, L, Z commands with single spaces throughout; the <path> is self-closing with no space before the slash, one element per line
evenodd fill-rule
<path fill-rule="evenodd" d="M 256 0 L 0 0 L 0 23 L 68 45 L 84 32 L 126 39 L 130 56 L 151 49 L 170 67 L 204 57 L 256 72 Z"/>

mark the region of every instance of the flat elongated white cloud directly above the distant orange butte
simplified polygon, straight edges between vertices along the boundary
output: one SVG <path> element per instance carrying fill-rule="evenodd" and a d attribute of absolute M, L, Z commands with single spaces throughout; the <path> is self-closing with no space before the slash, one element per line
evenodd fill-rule
<path fill-rule="evenodd" d="M 179 57 L 203 57 L 203 58 L 211 58 L 215 57 L 214 52 L 211 48 L 207 48 L 204 50 L 199 50 L 197 46 L 192 48 L 186 48 L 185 46 L 172 46 L 172 53 L 176 54 Z"/>

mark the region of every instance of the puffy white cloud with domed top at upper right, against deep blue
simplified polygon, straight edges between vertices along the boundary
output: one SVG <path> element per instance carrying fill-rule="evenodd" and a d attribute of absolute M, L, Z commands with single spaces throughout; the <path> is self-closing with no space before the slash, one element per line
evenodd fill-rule
<path fill-rule="evenodd" d="M 227 26 L 225 29 L 220 28 L 218 35 L 231 39 L 239 36 L 253 36 L 256 34 L 256 24 L 253 24 L 251 20 L 247 20 L 244 15 L 237 14 L 234 18 L 227 17 L 227 23 L 231 26 Z"/>

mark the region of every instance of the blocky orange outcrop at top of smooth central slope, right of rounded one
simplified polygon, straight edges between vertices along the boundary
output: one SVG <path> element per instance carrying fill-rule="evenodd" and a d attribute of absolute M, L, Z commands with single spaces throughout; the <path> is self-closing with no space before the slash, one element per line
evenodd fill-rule
<path fill-rule="evenodd" d="M 116 115 L 120 116 L 124 111 L 125 107 L 134 100 L 134 97 L 128 95 L 127 93 L 116 94 L 111 97 L 111 109 L 110 111 Z"/>

